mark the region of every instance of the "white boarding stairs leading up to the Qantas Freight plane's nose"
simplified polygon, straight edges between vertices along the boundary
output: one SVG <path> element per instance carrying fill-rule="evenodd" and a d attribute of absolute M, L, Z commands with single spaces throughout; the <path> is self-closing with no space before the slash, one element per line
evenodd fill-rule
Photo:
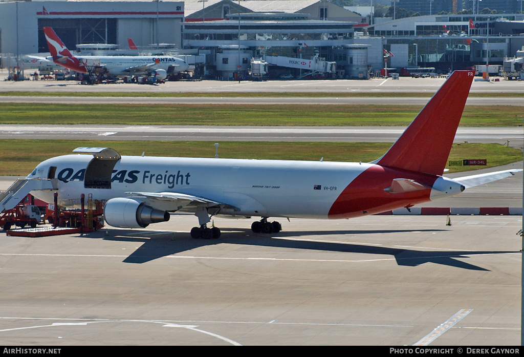
<path fill-rule="evenodd" d="M 0 193 L 0 213 L 13 209 L 34 190 L 56 190 L 58 179 L 18 179 L 5 192 Z"/>

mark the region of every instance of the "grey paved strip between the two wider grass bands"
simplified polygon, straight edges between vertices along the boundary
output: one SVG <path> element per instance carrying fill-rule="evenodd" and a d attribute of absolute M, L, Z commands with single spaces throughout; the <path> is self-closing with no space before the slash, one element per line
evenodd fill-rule
<path fill-rule="evenodd" d="M 1 98 L 1 97 L 0 97 Z M 207 126 L 207 125 L 17 125 L 0 124 L 0 139 L 195 140 L 255 142 L 394 143 L 401 126 Z M 522 148 L 522 127 L 459 127 L 456 143 L 496 143 Z"/>

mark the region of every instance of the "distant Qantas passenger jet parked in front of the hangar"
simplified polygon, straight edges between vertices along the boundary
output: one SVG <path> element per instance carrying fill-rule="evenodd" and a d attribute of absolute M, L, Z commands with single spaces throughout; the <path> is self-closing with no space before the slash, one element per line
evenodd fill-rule
<path fill-rule="evenodd" d="M 52 61 L 80 73 L 103 67 L 116 76 L 156 75 L 159 79 L 165 79 L 168 73 L 183 72 L 189 68 L 183 59 L 173 56 L 73 56 L 51 27 L 44 27 L 43 32 Z"/>

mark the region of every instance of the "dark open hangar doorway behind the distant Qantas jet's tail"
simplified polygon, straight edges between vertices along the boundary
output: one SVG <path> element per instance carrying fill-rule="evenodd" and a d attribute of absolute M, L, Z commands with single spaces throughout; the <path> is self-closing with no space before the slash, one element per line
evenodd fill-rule
<path fill-rule="evenodd" d="M 49 52 L 43 27 L 50 26 L 71 51 L 80 44 L 117 44 L 114 18 L 38 19 L 38 52 Z"/>

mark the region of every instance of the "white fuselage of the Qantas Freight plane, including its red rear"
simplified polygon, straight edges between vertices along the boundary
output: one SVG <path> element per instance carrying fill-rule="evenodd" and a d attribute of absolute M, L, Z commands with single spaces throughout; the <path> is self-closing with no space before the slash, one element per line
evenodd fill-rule
<path fill-rule="evenodd" d="M 77 199 L 81 193 L 109 200 L 125 197 L 128 192 L 176 192 L 235 208 L 224 208 L 220 214 L 260 217 L 357 217 L 428 201 L 431 193 L 431 188 L 406 197 L 385 192 L 391 185 L 390 177 L 399 174 L 373 164 L 147 156 L 122 156 L 113 168 L 111 188 L 84 188 L 85 168 L 92 158 L 65 155 L 48 159 L 28 178 L 48 178 L 50 168 L 56 167 L 53 176 L 58 178 L 59 199 Z M 362 187 L 350 186 L 354 181 L 358 183 L 358 176 L 362 180 L 364 172 L 376 170 L 385 170 L 386 175 L 370 172 L 370 177 L 378 179 L 364 178 L 366 184 Z M 419 181 L 425 179 L 428 185 L 437 179 L 433 175 L 417 175 Z M 34 194 L 47 202 L 53 200 L 52 191 Z M 364 208 L 361 203 L 353 207 L 353 196 L 361 202 L 362 194 L 371 195 L 369 204 L 364 197 Z M 335 201 L 338 206 L 334 211 Z M 177 207 L 167 204 L 162 209 L 176 211 Z"/>

